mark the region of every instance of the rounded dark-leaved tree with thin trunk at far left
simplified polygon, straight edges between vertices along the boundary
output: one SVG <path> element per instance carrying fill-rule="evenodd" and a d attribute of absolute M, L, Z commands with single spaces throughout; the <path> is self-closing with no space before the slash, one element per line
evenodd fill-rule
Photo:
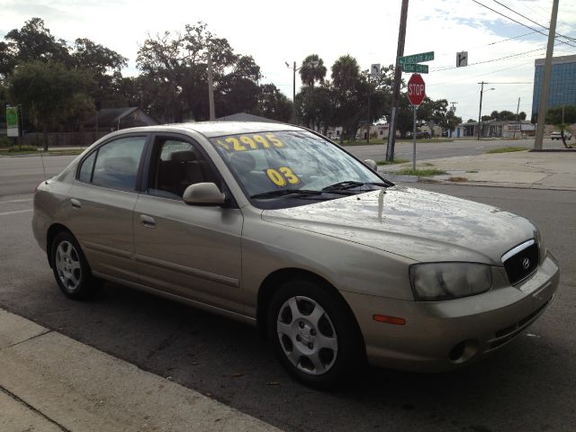
<path fill-rule="evenodd" d="M 51 60 L 23 63 L 8 79 L 12 102 L 22 104 L 28 117 L 40 123 L 45 150 L 49 128 L 70 119 L 82 121 L 94 112 L 94 102 L 86 93 L 90 85 L 92 77 L 85 71 Z"/>

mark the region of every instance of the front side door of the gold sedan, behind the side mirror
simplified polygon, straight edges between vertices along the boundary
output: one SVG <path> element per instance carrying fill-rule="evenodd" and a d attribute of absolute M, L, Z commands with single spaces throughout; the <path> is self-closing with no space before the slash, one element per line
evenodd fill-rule
<path fill-rule="evenodd" d="M 241 312 L 242 213 L 233 201 L 210 207 L 182 200 L 189 184 L 215 183 L 226 192 L 211 160 L 193 139 L 157 135 L 150 151 L 147 187 L 134 209 L 141 284 Z"/>

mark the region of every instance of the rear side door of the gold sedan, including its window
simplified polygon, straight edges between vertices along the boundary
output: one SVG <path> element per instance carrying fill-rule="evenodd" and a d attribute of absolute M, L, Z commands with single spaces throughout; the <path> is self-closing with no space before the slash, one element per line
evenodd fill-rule
<path fill-rule="evenodd" d="M 137 282 L 132 211 L 148 135 L 112 139 L 80 163 L 67 226 L 96 274 Z"/>

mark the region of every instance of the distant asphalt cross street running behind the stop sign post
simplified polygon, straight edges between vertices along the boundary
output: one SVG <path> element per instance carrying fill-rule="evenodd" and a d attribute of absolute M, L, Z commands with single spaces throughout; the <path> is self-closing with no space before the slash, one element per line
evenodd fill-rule
<path fill-rule="evenodd" d="M 552 139 L 545 139 L 543 145 L 544 148 L 563 148 L 562 141 Z M 491 148 L 509 146 L 534 148 L 534 139 L 482 139 L 480 141 L 460 139 L 451 142 L 421 142 L 416 144 L 416 160 L 482 155 Z M 386 145 L 347 146 L 347 150 L 361 160 L 386 158 Z M 412 160 L 412 155 L 411 142 L 396 142 L 394 158 Z"/>

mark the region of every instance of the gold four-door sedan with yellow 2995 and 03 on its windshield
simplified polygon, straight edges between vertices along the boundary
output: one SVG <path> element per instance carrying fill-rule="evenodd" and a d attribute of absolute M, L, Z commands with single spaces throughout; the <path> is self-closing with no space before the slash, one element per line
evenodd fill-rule
<path fill-rule="evenodd" d="M 471 364 L 545 311 L 533 223 L 375 168 L 284 124 L 120 130 L 38 186 L 32 227 L 68 297 L 107 280 L 256 324 L 320 388 Z"/>

